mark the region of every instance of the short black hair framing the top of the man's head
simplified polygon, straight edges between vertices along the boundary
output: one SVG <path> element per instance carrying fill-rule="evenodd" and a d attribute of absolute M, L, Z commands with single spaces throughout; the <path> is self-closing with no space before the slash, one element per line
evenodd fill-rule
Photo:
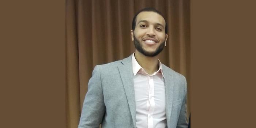
<path fill-rule="evenodd" d="M 161 15 L 161 16 L 163 17 L 162 13 L 159 12 L 158 10 L 156 10 L 155 8 L 151 8 L 151 7 L 150 7 L 150 8 L 143 8 L 142 10 L 138 11 L 138 12 L 134 15 L 134 17 L 133 17 L 133 19 L 132 19 L 132 30 L 133 30 L 133 31 L 134 31 L 135 26 L 136 26 L 136 18 L 137 18 L 137 15 L 138 15 L 140 12 L 156 12 L 157 14 L 159 14 L 159 15 Z M 163 19 L 165 19 L 165 18 L 163 17 Z M 167 34 L 167 32 L 168 32 L 168 26 L 167 26 L 167 23 L 166 23 L 166 20 L 165 20 L 165 34 Z"/>

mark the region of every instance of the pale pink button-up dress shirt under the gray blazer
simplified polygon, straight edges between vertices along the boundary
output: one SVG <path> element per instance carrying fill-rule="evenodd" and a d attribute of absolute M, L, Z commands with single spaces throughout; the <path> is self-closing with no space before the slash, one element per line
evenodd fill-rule
<path fill-rule="evenodd" d="M 158 65 L 158 71 L 149 75 L 132 55 L 137 128 L 167 128 L 165 83 L 159 60 Z"/>

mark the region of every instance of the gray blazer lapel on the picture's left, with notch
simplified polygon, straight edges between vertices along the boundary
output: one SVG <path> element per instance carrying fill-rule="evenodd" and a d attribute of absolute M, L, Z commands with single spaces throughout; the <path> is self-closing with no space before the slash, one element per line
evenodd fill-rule
<path fill-rule="evenodd" d="M 132 56 L 121 61 L 123 65 L 118 66 L 119 73 L 123 82 L 129 109 L 132 115 L 133 125 L 136 127 L 136 105 L 132 74 Z"/>

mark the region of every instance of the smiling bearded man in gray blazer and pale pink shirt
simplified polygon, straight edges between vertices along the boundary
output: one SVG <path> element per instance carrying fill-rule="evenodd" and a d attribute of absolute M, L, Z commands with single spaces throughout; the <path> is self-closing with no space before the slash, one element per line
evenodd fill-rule
<path fill-rule="evenodd" d="M 135 53 L 96 65 L 88 83 L 79 128 L 187 128 L 187 83 L 161 64 L 167 24 L 154 8 L 133 18 Z"/>

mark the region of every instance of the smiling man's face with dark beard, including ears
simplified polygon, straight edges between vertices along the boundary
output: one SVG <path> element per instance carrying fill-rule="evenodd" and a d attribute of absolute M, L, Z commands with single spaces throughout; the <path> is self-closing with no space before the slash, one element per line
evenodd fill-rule
<path fill-rule="evenodd" d="M 163 50 L 168 37 L 165 19 L 156 12 L 140 12 L 131 34 L 136 50 L 145 56 L 156 56 Z"/>

